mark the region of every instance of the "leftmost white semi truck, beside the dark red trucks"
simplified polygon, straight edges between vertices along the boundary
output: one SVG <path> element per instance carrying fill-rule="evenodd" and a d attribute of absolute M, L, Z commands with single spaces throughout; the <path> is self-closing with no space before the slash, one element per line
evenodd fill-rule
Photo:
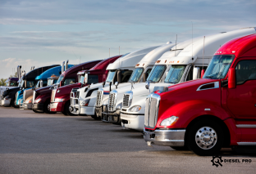
<path fill-rule="evenodd" d="M 107 87 L 105 94 L 108 95 L 109 91 L 115 88 L 115 82 L 126 83 L 139 60 L 148 54 L 149 51 L 152 51 L 157 47 L 159 46 L 147 47 L 121 56 L 119 59 L 107 66 L 108 74 L 105 82 L 72 90 L 71 113 L 91 115 L 93 118 L 97 119 L 95 116 L 95 102 L 98 89 Z M 85 75 L 85 77 L 88 77 L 88 75 Z"/>

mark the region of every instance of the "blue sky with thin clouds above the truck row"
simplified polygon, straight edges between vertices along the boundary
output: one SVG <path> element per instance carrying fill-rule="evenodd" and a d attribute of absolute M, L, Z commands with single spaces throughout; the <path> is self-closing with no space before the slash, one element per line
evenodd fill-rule
<path fill-rule="evenodd" d="M 142 47 L 256 27 L 255 0 L 1 0 L 0 78 L 12 69 L 101 60 Z"/>

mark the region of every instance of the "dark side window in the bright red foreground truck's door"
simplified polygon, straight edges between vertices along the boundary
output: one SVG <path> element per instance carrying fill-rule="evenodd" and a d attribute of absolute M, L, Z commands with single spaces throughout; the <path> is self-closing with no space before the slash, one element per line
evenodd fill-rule
<path fill-rule="evenodd" d="M 256 60 L 241 60 L 235 66 L 236 84 L 240 85 L 247 80 L 256 79 Z"/>

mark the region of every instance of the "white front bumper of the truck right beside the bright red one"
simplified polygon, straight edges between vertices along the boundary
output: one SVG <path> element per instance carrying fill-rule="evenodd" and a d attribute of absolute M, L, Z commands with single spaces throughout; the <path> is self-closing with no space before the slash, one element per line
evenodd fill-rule
<path fill-rule="evenodd" d="M 123 127 L 135 129 L 138 131 L 144 130 L 144 115 L 123 114 L 120 115 Z"/>

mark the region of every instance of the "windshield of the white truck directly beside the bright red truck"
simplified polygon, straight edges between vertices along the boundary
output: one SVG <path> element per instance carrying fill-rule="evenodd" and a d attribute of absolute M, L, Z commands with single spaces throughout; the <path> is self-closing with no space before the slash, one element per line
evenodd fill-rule
<path fill-rule="evenodd" d="M 185 71 L 186 65 L 171 65 L 164 83 L 179 83 Z"/>

